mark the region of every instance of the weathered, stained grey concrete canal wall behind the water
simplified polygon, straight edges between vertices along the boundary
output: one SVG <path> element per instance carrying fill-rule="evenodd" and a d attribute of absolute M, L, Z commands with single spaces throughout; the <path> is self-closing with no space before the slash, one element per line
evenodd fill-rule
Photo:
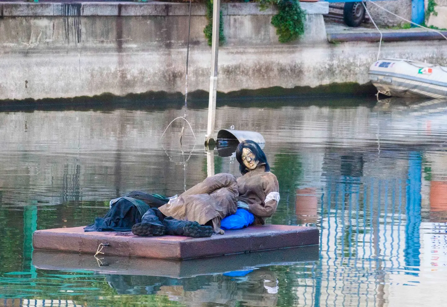
<path fill-rule="evenodd" d="M 227 43 L 219 49 L 218 91 L 368 82 L 378 44 L 329 44 L 327 2 L 302 3 L 303 38 L 281 44 L 273 9 L 223 5 Z M 180 3 L 3 3 L 0 99 L 184 92 L 188 6 Z M 209 88 L 205 7 L 191 17 L 189 91 Z M 421 48 L 417 48 L 420 45 Z M 445 42 L 385 43 L 382 56 L 447 63 Z"/>

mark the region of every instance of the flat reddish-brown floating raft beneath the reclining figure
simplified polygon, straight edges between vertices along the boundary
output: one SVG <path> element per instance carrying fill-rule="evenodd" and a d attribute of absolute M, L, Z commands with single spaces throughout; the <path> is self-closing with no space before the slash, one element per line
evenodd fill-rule
<path fill-rule="evenodd" d="M 257 252 L 305 245 L 317 245 L 316 227 L 262 225 L 227 230 L 209 238 L 185 236 L 139 237 L 131 233 L 84 232 L 84 227 L 38 230 L 33 235 L 34 249 L 94 254 L 98 246 L 105 255 L 159 259 L 193 259 L 228 254 Z"/>

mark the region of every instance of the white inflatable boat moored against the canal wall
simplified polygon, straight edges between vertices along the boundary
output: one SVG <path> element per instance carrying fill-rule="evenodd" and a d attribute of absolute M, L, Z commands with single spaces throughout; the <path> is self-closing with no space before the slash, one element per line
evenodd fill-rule
<path fill-rule="evenodd" d="M 383 59 L 369 68 L 379 93 L 397 97 L 447 97 L 447 67 L 405 59 Z"/>

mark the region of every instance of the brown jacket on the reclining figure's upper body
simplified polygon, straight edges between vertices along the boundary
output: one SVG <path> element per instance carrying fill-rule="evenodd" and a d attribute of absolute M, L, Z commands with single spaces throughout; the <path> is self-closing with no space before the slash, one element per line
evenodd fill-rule
<path fill-rule="evenodd" d="M 255 224 L 265 224 L 276 211 L 278 202 L 276 200 L 266 200 L 270 192 L 279 192 L 279 184 L 276 176 L 271 172 L 266 172 L 264 164 L 245 173 L 237 178 L 237 189 L 239 190 L 239 200 L 249 205 L 249 211 L 255 216 Z"/>

